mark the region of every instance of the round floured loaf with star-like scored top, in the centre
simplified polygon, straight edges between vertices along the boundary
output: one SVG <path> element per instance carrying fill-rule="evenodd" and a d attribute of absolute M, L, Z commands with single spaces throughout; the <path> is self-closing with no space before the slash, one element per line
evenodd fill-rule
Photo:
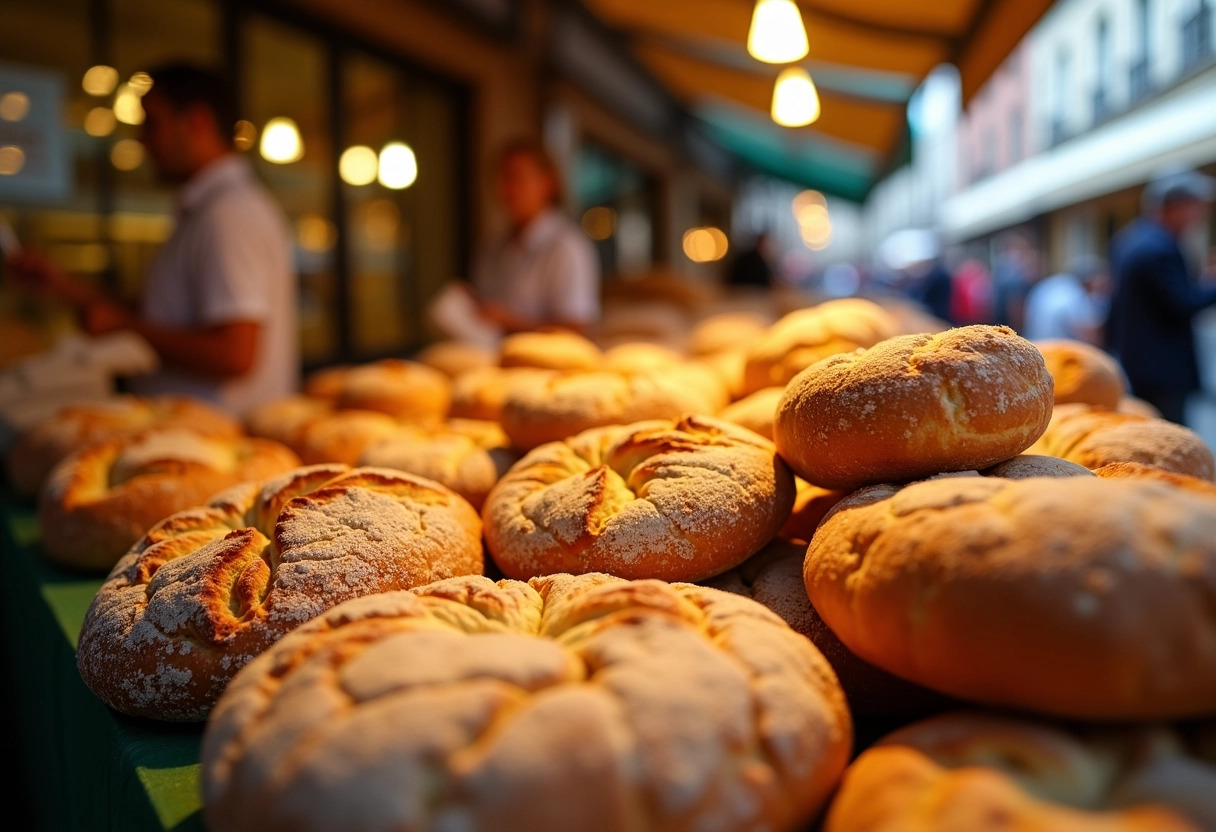
<path fill-rule="evenodd" d="M 686 416 L 541 445 L 499 480 L 482 516 L 510 578 L 703 580 L 769 543 L 793 501 L 794 478 L 772 443 Z"/>

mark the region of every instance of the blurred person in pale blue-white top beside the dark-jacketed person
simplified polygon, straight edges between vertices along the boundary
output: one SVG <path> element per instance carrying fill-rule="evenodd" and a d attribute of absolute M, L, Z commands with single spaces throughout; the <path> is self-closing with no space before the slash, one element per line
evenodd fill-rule
<path fill-rule="evenodd" d="M 1030 287 L 1019 335 L 1030 341 L 1068 338 L 1102 347 L 1109 291 L 1107 263 L 1096 255 L 1077 258 L 1066 271 Z"/>

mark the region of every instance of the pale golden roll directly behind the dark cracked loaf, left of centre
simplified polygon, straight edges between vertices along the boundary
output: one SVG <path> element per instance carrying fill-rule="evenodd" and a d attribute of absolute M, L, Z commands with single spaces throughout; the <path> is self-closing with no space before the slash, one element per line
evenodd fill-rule
<path fill-rule="evenodd" d="M 359 463 L 434 479 L 480 510 L 485 495 L 518 461 L 497 422 L 452 418 L 400 427 L 368 445 Z"/>

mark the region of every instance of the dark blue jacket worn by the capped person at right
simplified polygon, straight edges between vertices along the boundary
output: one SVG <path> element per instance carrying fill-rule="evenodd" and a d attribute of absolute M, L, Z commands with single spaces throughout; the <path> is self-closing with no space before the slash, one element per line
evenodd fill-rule
<path fill-rule="evenodd" d="M 1132 393 L 1199 389 L 1193 320 L 1216 304 L 1216 287 L 1199 287 L 1178 241 L 1147 219 L 1115 235 L 1110 274 L 1115 287 L 1107 347 L 1127 373 Z"/>

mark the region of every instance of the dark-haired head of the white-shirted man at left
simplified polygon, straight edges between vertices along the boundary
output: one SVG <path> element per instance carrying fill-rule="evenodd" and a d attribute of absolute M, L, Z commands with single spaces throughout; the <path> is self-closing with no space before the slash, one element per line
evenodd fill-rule
<path fill-rule="evenodd" d="M 140 140 L 157 175 L 185 182 L 232 150 L 236 103 L 221 73 L 187 63 L 158 67 L 148 74 Z"/>

